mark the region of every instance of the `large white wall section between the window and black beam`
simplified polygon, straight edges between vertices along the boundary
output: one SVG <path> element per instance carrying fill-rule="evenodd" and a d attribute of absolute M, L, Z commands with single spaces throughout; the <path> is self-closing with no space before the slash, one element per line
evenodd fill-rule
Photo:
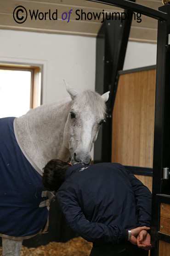
<path fill-rule="evenodd" d="M 0 30 L 0 62 L 44 65 L 43 103 L 68 96 L 63 79 L 79 92 L 95 89 L 96 39 Z"/>

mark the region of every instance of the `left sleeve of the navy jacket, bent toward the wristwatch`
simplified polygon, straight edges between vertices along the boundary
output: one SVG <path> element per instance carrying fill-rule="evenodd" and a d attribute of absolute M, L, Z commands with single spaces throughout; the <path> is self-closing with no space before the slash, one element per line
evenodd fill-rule
<path fill-rule="evenodd" d="M 85 218 L 73 188 L 57 192 L 57 200 L 62 213 L 74 232 L 89 242 L 117 244 L 127 240 L 127 230 L 121 226 L 106 226 L 90 222 Z"/>

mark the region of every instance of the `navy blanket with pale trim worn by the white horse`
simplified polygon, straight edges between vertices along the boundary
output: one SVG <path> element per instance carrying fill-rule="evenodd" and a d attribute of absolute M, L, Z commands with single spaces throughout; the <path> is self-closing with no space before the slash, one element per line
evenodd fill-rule
<path fill-rule="evenodd" d="M 0 236 L 26 239 L 45 227 L 49 200 L 41 175 L 18 146 L 14 119 L 0 119 Z"/>

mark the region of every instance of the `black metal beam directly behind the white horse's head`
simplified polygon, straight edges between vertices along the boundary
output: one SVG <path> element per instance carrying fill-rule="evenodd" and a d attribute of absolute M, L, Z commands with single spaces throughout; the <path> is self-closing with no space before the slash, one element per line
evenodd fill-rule
<path fill-rule="evenodd" d="M 132 0 L 135 1 L 135 0 Z M 125 13 L 129 10 L 125 10 Z M 123 69 L 131 20 L 105 20 L 96 39 L 96 86 L 100 94 L 110 91 L 106 123 L 94 145 L 94 163 L 110 162 L 112 151 L 112 113 L 117 89 L 118 71 Z"/>

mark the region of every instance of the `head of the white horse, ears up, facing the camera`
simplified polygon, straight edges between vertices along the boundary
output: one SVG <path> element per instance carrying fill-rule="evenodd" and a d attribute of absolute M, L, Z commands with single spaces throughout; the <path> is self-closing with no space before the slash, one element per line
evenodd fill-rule
<path fill-rule="evenodd" d="M 72 101 L 64 128 L 65 147 L 69 149 L 73 164 L 87 165 L 91 162 L 90 152 L 98 131 L 105 121 L 105 102 L 108 101 L 109 92 L 102 96 L 91 90 L 78 94 L 67 84 L 66 89 Z"/>

